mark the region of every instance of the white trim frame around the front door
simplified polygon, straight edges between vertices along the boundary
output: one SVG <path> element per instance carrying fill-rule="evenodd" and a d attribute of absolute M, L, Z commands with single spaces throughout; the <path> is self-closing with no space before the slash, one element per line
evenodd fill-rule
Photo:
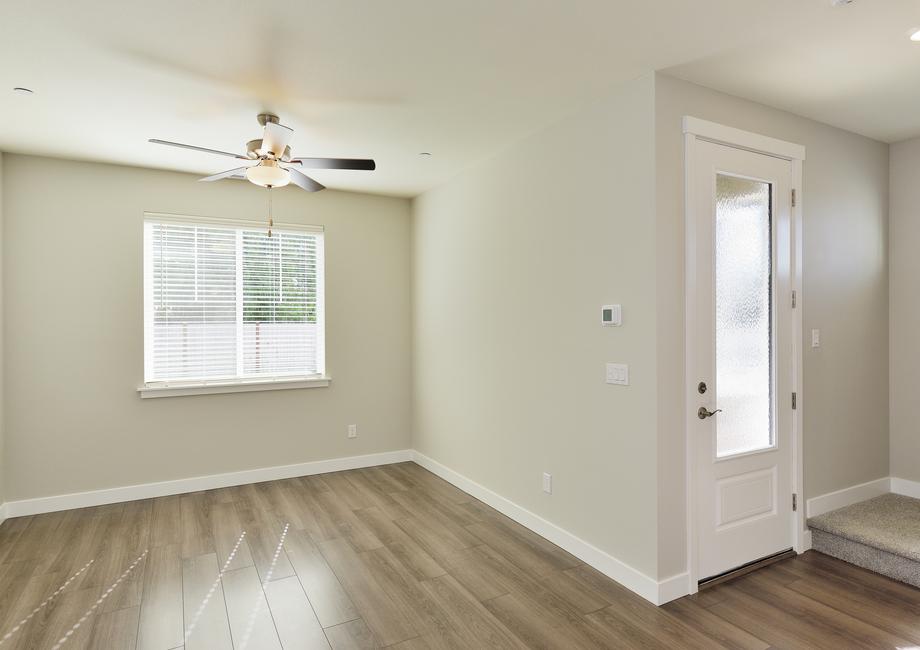
<path fill-rule="evenodd" d="M 777 140 L 758 133 L 742 131 L 715 122 L 707 122 L 696 117 L 685 116 L 684 132 L 684 230 L 685 230 L 685 311 L 684 311 L 684 452 L 686 456 L 687 479 L 687 573 L 690 593 L 697 592 L 699 581 L 699 530 L 696 517 L 696 453 L 692 444 L 691 432 L 695 425 L 696 413 L 690 408 L 696 400 L 693 387 L 696 385 L 698 372 L 693 367 L 691 350 L 696 345 L 696 215 L 694 214 L 694 183 L 692 182 L 692 163 L 695 146 L 700 140 L 753 151 L 754 153 L 775 156 L 792 163 L 792 187 L 796 193 L 795 205 L 792 207 L 792 286 L 796 293 L 796 308 L 792 310 L 793 318 L 793 377 L 792 386 L 797 395 L 795 416 L 792 425 L 792 491 L 798 495 L 798 509 L 793 514 L 793 543 L 797 553 L 806 550 L 805 540 L 805 494 L 802 424 L 803 424 L 803 382 L 802 382 L 802 169 L 805 161 L 805 147 L 802 145 Z M 791 297 L 790 297 L 791 299 Z M 790 396 L 791 398 L 791 396 Z"/>

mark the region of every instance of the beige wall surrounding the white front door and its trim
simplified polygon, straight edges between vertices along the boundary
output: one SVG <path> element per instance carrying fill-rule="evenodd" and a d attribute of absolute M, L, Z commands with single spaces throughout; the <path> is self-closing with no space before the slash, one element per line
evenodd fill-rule
<path fill-rule="evenodd" d="M 805 497 L 888 476 L 888 146 L 665 75 L 655 87 L 659 568 L 686 564 L 681 118 L 807 149 L 804 172 Z M 810 338 L 809 338 L 810 340 Z"/>

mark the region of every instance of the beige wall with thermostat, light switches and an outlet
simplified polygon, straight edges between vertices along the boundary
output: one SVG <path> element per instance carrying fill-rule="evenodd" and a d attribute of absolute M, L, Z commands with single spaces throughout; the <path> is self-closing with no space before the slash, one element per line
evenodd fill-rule
<path fill-rule="evenodd" d="M 653 126 L 646 77 L 416 199 L 413 245 L 416 449 L 650 576 Z"/>

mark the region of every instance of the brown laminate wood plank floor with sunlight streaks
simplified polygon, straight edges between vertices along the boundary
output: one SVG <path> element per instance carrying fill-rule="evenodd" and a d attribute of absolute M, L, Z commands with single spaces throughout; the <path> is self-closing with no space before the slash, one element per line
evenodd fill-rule
<path fill-rule="evenodd" d="M 913 587 L 809 552 L 656 608 L 412 463 L 0 526 L 0 650 L 915 646 Z"/>

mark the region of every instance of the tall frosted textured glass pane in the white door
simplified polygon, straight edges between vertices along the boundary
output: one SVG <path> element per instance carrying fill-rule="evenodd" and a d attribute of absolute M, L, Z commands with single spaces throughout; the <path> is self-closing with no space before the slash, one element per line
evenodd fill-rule
<path fill-rule="evenodd" d="M 716 176 L 716 456 L 774 446 L 770 184 Z"/>

